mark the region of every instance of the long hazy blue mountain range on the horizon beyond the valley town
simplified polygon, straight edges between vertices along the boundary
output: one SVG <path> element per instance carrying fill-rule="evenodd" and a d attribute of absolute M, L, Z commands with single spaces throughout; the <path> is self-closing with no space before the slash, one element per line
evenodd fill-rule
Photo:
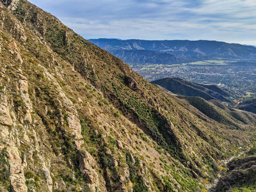
<path fill-rule="evenodd" d="M 149 59 L 149 61 L 152 63 L 159 62 L 160 60 L 162 62 L 161 64 L 179 63 L 179 61 L 200 61 L 216 58 L 228 60 L 256 59 L 256 47 L 209 40 L 118 40 L 99 38 L 90 39 L 89 41 L 102 49 L 113 53 L 115 56 L 127 63 L 140 63 L 141 58 L 152 57 L 152 53 L 148 55 L 148 52 L 141 52 L 141 50 L 175 54 L 183 58 L 179 58 L 178 61 L 172 59 L 161 60 L 159 58 L 155 60 Z M 168 58 L 170 55 L 154 54 L 154 56 Z M 147 59 L 142 60 L 142 62 L 146 61 Z"/>

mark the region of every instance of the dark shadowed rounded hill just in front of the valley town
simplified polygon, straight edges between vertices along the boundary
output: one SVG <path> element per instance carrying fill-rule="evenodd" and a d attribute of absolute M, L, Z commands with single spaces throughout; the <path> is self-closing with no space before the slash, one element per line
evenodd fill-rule
<path fill-rule="evenodd" d="M 202 97 L 205 100 L 217 99 L 222 102 L 232 102 L 232 100 L 227 98 L 230 97 L 230 95 L 214 84 L 198 84 L 177 77 L 166 77 L 152 81 L 151 83 L 158 84 L 166 90 L 179 95 Z"/>

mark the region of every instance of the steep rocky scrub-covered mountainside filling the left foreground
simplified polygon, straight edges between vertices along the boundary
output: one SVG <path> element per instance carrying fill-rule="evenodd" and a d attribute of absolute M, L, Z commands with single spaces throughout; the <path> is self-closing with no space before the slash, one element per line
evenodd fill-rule
<path fill-rule="evenodd" d="M 0 2 L 0 63 L 1 191 L 196 191 L 253 140 L 28 1 Z"/>

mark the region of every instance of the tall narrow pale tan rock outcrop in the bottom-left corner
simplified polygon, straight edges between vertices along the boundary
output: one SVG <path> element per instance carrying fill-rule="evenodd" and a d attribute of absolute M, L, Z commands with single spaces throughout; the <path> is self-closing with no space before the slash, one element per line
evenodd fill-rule
<path fill-rule="evenodd" d="M 8 160 L 10 164 L 10 180 L 12 191 L 27 192 L 26 179 L 24 177 L 24 167 L 20 159 L 20 153 L 16 147 L 8 147 Z"/>

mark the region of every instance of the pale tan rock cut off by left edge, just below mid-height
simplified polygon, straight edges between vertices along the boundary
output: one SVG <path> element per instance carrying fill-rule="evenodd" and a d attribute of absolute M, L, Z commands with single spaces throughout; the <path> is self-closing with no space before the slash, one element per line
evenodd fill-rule
<path fill-rule="evenodd" d="M 2 125 L 12 125 L 12 118 L 10 116 L 10 111 L 7 107 L 7 97 L 3 96 L 0 103 L 0 124 Z"/>

